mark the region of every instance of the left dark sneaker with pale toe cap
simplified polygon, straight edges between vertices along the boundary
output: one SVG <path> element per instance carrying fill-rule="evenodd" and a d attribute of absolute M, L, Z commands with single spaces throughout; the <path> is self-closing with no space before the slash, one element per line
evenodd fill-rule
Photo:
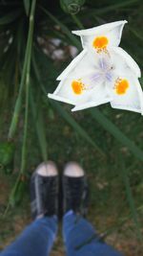
<path fill-rule="evenodd" d="M 32 219 L 58 214 L 58 172 L 51 161 L 41 163 L 31 175 Z"/>

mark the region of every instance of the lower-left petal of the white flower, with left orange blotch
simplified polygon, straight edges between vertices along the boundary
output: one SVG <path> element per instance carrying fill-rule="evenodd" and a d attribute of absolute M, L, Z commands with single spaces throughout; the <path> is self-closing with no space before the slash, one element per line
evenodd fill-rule
<path fill-rule="evenodd" d="M 82 77 L 82 79 L 66 79 L 60 81 L 53 94 L 48 95 L 51 99 L 72 105 L 83 105 L 89 102 L 97 103 L 107 97 L 103 88 L 103 78 L 98 73 Z M 110 100 L 109 100 L 110 101 Z"/>

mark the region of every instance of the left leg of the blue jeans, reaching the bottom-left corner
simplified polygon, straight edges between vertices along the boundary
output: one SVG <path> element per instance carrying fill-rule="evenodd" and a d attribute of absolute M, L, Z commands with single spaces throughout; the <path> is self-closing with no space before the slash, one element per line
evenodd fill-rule
<path fill-rule="evenodd" d="M 48 256 L 56 230 L 56 217 L 44 217 L 33 221 L 16 241 L 0 253 L 0 256 Z"/>

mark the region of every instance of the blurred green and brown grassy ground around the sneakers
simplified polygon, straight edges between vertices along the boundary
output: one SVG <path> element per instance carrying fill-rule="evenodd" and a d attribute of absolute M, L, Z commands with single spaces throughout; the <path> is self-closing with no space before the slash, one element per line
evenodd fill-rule
<path fill-rule="evenodd" d="M 101 110 L 102 109 L 104 111 L 103 107 Z M 125 122 L 126 113 L 123 113 L 122 115 L 122 121 Z M 127 191 L 123 179 L 123 171 L 120 169 L 117 147 L 119 147 L 120 151 L 124 152 L 126 164 L 132 161 L 133 155 L 131 155 L 124 147 L 121 147 L 120 145 L 118 146 L 109 133 L 100 129 L 98 124 L 93 124 L 92 120 L 90 118 L 88 119 L 87 116 L 87 113 L 84 115 L 79 114 L 75 116 L 75 119 L 78 119 L 85 129 L 89 129 L 94 140 L 96 136 L 100 138 L 96 141 L 99 145 L 102 145 L 102 149 L 106 151 L 107 157 L 100 155 L 100 153 L 93 149 L 90 144 L 84 139 L 81 139 L 77 132 L 75 132 L 71 126 L 67 125 L 66 122 L 53 111 L 51 121 L 49 120 L 47 122 L 49 159 L 57 162 L 60 167 L 60 172 L 62 172 L 64 163 L 69 160 L 80 162 L 86 171 L 91 188 L 89 220 L 92 221 L 92 224 L 96 227 L 98 233 L 105 234 L 106 242 L 123 251 L 125 255 L 142 256 L 143 248 L 140 239 L 138 238 L 138 229 L 136 228 L 133 212 L 130 208 L 131 204 L 126 194 Z M 131 120 L 132 117 L 134 117 L 134 114 L 131 114 Z M 119 124 L 118 119 L 117 122 Z M 131 122 L 131 127 L 132 126 L 133 123 Z M 31 135 L 29 144 L 32 144 L 34 140 L 35 137 Z M 39 149 L 38 147 L 35 147 L 35 145 L 36 142 L 34 141 L 33 151 L 31 154 L 28 153 L 29 167 L 27 167 L 27 188 L 25 189 L 23 197 L 20 198 L 18 205 L 10 207 L 5 216 L 3 214 L 7 207 L 10 189 L 18 172 L 18 166 L 14 167 L 12 174 L 10 175 L 5 174 L 4 172 L 1 172 L 0 174 L 1 249 L 7 244 L 10 244 L 17 234 L 31 222 L 28 184 L 31 173 L 34 171 L 35 166 L 41 161 Z M 18 155 L 16 155 L 15 158 L 17 159 Z M 17 161 L 16 159 L 15 162 Z M 140 226 L 142 226 L 141 163 L 133 160 L 133 164 L 127 165 L 126 171 L 130 178 L 136 209 L 140 209 L 137 213 L 137 218 Z M 142 232 L 142 228 L 140 228 L 140 231 Z M 51 255 L 64 254 L 64 247 L 61 235 L 59 234 L 59 238 L 53 246 Z"/>

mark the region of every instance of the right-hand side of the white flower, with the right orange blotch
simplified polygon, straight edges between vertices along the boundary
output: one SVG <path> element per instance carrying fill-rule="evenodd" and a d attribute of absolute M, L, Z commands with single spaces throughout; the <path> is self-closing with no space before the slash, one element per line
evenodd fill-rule
<path fill-rule="evenodd" d="M 112 107 L 135 112 L 143 111 L 143 92 L 137 77 L 139 68 L 121 48 L 111 48 L 112 81 L 106 81 L 112 95 Z"/>

